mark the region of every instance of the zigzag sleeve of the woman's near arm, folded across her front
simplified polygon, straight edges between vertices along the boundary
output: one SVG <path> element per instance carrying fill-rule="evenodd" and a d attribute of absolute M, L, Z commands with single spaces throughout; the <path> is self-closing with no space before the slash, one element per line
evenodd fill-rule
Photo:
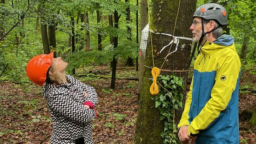
<path fill-rule="evenodd" d="M 69 98 L 64 92 L 52 92 L 47 97 L 47 102 L 53 111 L 79 123 L 92 121 L 95 117 L 93 109 L 87 109 Z"/>

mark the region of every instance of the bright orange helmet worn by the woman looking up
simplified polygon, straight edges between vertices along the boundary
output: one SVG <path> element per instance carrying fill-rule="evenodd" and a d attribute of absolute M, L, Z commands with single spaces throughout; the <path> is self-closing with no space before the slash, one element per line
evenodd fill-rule
<path fill-rule="evenodd" d="M 47 70 L 52 65 L 54 52 L 40 54 L 27 63 L 27 76 L 36 85 L 43 86 L 46 81 Z"/>

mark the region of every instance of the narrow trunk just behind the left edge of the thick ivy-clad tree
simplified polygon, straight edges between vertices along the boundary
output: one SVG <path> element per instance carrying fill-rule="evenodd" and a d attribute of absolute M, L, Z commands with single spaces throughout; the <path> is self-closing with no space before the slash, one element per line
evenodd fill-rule
<path fill-rule="evenodd" d="M 143 28 L 148 24 L 148 0 L 141 0 L 141 7 L 140 7 L 140 35 Z M 143 73 L 144 73 L 144 63 L 145 58 L 143 55 L 140 55 L 140 62 L 139 62 L 139 93 L 141 94 L 141 84 L 143 79 Z"/>

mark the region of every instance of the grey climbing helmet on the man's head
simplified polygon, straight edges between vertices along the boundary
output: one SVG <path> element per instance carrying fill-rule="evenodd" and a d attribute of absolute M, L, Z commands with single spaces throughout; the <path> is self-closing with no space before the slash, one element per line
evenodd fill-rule
<path fill-rule="evenodd" d="M 201 17 L 205 20 L 217 20 L 222 26 L 228 24 L 227 10 L 215 3 L 204 4 L 198 7 L 193 17 Z"/>

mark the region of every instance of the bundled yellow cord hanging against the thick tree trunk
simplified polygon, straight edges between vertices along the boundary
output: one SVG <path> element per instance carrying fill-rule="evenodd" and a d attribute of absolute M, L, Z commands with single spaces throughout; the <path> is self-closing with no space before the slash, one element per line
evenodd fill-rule
<path fill-rule="evenodd" d="M 156 95 L 160 91 L 159 87 L 156 83 L 156 78 L 159 76 L 160 72 L 161 72 L 161 70 L 158 67 L 153 67 L 152 68 L 151 73 L 152 73 L 152 76 L 153 76 L 153 83 L 152 83 L 152 85 L 150 86 L 150 89 L 149 89 L 149 91 L 152 95 Z"/>

